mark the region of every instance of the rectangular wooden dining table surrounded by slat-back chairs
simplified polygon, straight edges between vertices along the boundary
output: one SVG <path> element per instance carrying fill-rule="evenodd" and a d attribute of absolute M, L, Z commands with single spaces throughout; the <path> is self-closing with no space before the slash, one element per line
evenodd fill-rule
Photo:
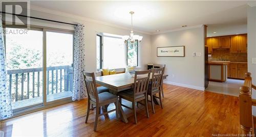
<path fill-rule="evenodd" d="M 163 78 L 166 78 L 168 75 L 164 74 Z M 152 78 L 152 74 L 150 79 Z M 118 92 L 133 88 L 134 77 L 130 73 L 120 73 L 114 75 L 105 75 L 105 76 L 97 76 L 96 83 L 98 85 L 109 88 L 110 93 L 117 95 Z M 159 104 L 157 99 L 154 98 L 155 104 Z M 106 106 L 108 107 L 108 106 Z M 120 102 L 118 102 L 118 107 L 120 110 L 120 118 L 123 122 L 128 123 L 128 120 L 123 112 Z"/>

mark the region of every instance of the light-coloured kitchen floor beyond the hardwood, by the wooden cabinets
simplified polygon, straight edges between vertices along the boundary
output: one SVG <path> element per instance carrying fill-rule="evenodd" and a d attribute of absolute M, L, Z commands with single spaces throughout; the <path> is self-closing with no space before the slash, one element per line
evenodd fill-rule
<path fill-rule="evenodd" d="M 243 85 L 243 83 L 244 83 L 244 80 L 229 79 L 229 78 L 224 83 L 209 81 L 209 85 L 205 91 L 238 97 L 240 92 L 239 88 Z"/>

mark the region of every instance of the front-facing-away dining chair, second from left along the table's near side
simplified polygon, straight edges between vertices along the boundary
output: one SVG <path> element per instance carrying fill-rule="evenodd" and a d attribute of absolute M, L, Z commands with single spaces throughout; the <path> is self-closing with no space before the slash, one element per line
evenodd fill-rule
<path fill-rule="evenodd" d="M 150 79 L 151 70 L 144 70 L 144 71 L 135 71 L 134 76 L 134 84 L 133 89 L 124 90 L 118 93 L 119 101 L 122 106 L 133 110 L 134 112 L 134 120 L 137 124 L 137 116 L 136 116 L 136 107 L 135 103 L 138 101 L 144 100 L 144 107 L 147 118 L 149 118 L 148 108 L 147 108 L 147 87 L 148 81 Z M 122 98 L 132 102 L 132 108 L 122 104 Z"/>

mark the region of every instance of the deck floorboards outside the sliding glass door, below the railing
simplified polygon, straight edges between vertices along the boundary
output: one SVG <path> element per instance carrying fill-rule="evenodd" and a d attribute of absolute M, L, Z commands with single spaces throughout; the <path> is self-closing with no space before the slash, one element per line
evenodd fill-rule
<path fill-rule="evenodd" d="M 70 91 L 49 94 L 47 95 L 47 102 L 70 97 L 70 96 L 72 96 L 72 92 Z M 35 97 L 35 98 L 25 99 L 17 102 L 12 102 L 12 109 L 14 109 L 15 111 L 15 109 L 21 109 L 27 106 L 32 107 L 40 104 L 42 104 L 42 97 Z"/>

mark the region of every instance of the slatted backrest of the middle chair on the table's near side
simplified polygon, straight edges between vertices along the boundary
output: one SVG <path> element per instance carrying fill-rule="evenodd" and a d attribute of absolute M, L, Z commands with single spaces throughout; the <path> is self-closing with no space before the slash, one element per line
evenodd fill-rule
<path fill-rule="evenodd" d="M 134 96 L 146 94 L 151 70 L 135 71 Z"/>

